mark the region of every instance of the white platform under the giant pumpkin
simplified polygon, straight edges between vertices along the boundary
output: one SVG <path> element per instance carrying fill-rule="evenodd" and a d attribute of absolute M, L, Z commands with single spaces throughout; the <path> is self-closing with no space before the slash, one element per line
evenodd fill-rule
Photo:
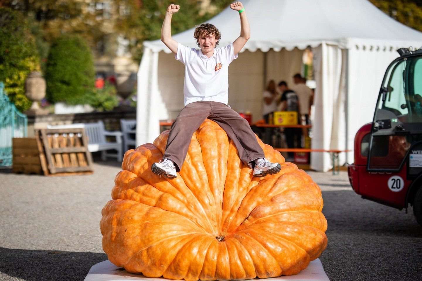
<path fill-rule="evenodd" d="M 89 270 L 87 277 L 84 281 L 127 281 L 127 280 L 138 280 L 138 281 L 173 281 L 166 278 L 149 278 L 142 274 L 129 273 L 123 268 L 112 264 L 109 260 L 97 263 L 93 265 Z M 252 279 L 253 280 L 253 279 Z M 262 279 L 263 280 L 263 279 Z M 295 281 L 330 281 L 327 274 L 325 274 L 324 268 L 322 268 L 321 261 L 316 259 L 309 263 L 305 270 L 300 271 L 296 275 L 292 276 L 280 276 L 274 278 L 268 278 L 268 281 L 284 281 L 284 280 L 295 280 Z"/>

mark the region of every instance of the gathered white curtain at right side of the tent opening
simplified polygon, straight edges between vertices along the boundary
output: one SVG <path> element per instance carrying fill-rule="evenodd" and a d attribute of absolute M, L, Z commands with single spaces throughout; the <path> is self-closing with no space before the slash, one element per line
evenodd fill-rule
<path fill-rule="evenodd" d="M 322 42 L 314 49 L 314 122 L 311 148 L 339 149 L 346 147 L 346 50 Z M 340 164 L 345 156 L 341 155 Z M 328 171 L 333 168 L 329 153 L 312 153 L 311 169 Z"/>

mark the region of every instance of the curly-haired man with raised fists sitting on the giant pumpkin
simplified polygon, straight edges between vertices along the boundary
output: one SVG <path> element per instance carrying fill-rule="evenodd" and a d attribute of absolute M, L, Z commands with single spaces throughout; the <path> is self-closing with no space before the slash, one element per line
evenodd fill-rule
<path fill-rule="evenodd" d="M 181 45 L 171 36 L 171 18 L 180 9 L 170 4 L 161 28 L 161 40 L 185 65 L 184 105 L 173 122 L 162 160 L 151 166 L 154 174 L 166 178 L 177 177 L 189 148 L 192 134 L 208 118 L 221 126 L 234 142 L 239 158 L 253 169 L 254 177 L 265 177 L 281 170 L 280 163 L 265 159 L 248 121 L 230 108 L 228 103 L 228 67 L 250 38 L 249 21 L 241 2 L 230 4 L 240 16 L 240 36 L 233 43 L 216 48 L 221 34 L 212 24 L 201 24 L 194 38 L 199 50 Z"/>

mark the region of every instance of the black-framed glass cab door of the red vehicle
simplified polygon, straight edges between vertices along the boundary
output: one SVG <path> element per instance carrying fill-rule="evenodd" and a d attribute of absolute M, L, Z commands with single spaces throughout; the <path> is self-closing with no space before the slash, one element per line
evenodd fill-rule
<path fill-rule="evenodd" d="M 390 64 L 380 89 L 369 141 L 368 170 L 400 169 L 409 148 L 421 141 L 422 57 L 401 57 Z"/>

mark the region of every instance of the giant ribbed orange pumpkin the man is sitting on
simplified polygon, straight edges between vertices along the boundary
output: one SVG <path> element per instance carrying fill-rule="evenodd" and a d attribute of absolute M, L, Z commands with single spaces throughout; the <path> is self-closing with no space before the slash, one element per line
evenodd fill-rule
<path fill-rule="evenodd" d="M 318 185 L 279 152 L 281 171 L 252 176 L 225 131 L 206 120 L 175 179 L 151 165 L 168 131 L 124 155 L 100 222 L 108 259 L 132 273 L 185 280 L 292 275 L 327 246 Z"/>

